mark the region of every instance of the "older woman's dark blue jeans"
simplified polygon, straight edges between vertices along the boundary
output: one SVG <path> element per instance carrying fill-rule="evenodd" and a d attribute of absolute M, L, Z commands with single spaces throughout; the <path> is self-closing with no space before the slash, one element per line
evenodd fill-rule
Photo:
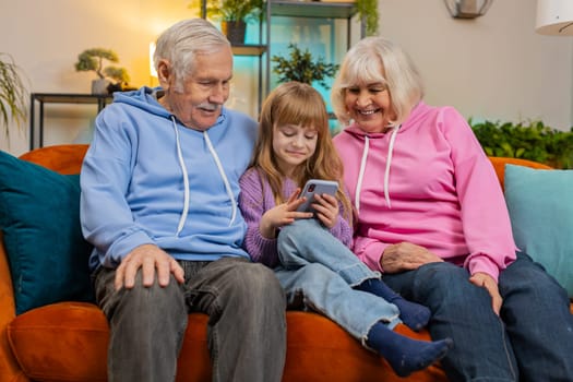
<path fill-rule="evenodd" d="M 383 276 L 404 298 L 430 308 L 433 339 L 454 339 L 441 361 L 451 381 L 573 381 L 569 298 L 539 264 L 517 253 L 501 272 L 500 317 L 486 289 L 468 277 L 467 270 L 446 262 Z"/>

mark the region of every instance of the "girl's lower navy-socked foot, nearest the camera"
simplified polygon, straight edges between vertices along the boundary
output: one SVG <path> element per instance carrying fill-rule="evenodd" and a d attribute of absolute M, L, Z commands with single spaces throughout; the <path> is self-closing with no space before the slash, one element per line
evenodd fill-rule
<path fill-rule="evenodd" d="M 387 360 L 397 375 L 407 377 L 443 358 L 452 348 L 453 341 L 417 341 L 391 331 L 378 322 L 368 332 L 367 344 Z"/>

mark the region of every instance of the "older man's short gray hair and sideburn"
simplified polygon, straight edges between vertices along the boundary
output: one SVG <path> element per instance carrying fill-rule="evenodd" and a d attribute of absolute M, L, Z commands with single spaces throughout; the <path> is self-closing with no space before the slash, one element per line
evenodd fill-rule
<path fill-rule="evenodd" d="M 204 19 L 180 21 L 157 38 L 153 64 L 157 70 L 160 60 L 169 61 L 175 74 L 175 89 L 181 92 L 198 53 L 212 53 L 230 43 L 212 23 Z"/>

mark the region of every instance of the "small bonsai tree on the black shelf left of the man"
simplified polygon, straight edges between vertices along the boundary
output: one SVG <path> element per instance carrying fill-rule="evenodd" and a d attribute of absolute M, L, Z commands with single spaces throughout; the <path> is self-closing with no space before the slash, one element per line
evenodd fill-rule
<path fill-rule="evenodd" d="M 130 80 L 124 68 L 104 67 L 105 61 L 119 62 L 119 57 L 114 50 L 104 48 L 86 49 L 77 56 L 75 70 L 79 72 L 94 71 L 98 76 L 97 80 L 92 82 L 92 94 L 107 94 L 110 85 L 114 89 L 122 89 Z M 116 82 L 110 83 L 109 80 L 115 80 Z"/>

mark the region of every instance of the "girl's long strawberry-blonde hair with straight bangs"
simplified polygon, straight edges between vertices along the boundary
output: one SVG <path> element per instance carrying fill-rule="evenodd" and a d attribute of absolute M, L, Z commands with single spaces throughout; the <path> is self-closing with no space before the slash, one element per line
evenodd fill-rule
<path fill-rule="evenodd" d="M 324 99 L 312 86 L 297 81 L 280 84 L 263 103 L 251 164 L 267 179 L 276 204 L 286 202 L 283 195 L 285 175 L 280 172 L 273 151 L 274 127 L 282 124 L 312 127 L 317 130 L 317 150 L 295 171 L 296 178 L 293 180 L 300 188 L 310 179 L 338 181 L 336 199 L 342 204 L 344 216 L 350 222 L 351 205 L 343 190 L 343 163 L 332 143 Z"/>

